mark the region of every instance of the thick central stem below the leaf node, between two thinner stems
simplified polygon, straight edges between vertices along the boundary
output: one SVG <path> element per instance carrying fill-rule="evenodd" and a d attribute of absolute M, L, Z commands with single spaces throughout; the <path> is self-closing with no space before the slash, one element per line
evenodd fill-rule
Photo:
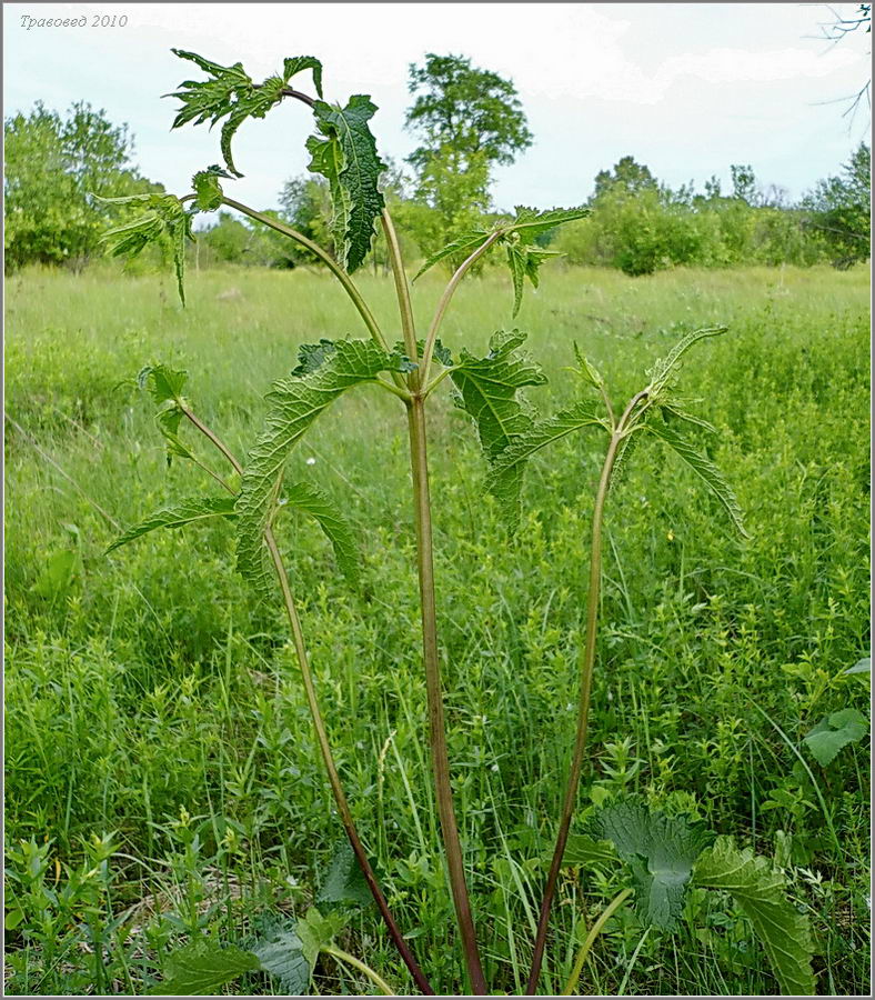
<path fill-rule="evenodd" d="M 471 914 L 462 846 L 459 840 L 459 829 L 453 809 L 453 790 L 450 783 L 450 757 L 446 748 L 446 723 L 444 720 L 441 664 L 438 652 L 425 407 L 421 397 L 414 397 L 409 403 L 408 423 L 410 430 L 414 517 L 416 522 L 416 560 L 422 609 L 422 653 L 429 702 L 429 742 L 431 746 L 434 792 L 438 802 L 438 816 L 441 821 L 441 832 L 443 834 L 446 867 L 450 874 L 450 888 L 453 893 L 471 988 L 475 994 L 485 996 L 487 992 L 486 980 L 483 976 L 476 931 L 474 930 L 474 919 Z"/>

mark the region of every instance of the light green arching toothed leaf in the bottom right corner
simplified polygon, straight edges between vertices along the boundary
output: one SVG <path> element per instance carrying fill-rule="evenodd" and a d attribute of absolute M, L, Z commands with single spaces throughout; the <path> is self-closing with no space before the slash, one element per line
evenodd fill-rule
<path fill-rule="evenodd" d="M 778 870 L 750 849 L 738 850 L 732 838 L 720 837 L 698 857 L 693 884 L 722 889 L 733 897 L 763 943 L 782 993 L 814 996 L 808 920 L 787 899 L 786 881 Z"/>

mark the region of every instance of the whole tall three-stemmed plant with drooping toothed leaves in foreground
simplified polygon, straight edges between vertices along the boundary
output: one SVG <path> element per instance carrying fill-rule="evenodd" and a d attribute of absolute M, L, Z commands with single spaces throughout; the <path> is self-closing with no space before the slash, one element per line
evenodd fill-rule
<path fill-rule="evenodd" d="M 194 62 L 209 79 L 181 84 L 174 97 L 182 102 L 182 110 L 174 124 L 205 121 L 215 123 L 224 120 L 221 148 L 228 169 L 212 167 L 195 174 L 193 192 L 181 198 L 143 196 L 147 212 L 130 224 L 108 233 L 113 252 L 132 256 L 149 242 L 168 240 L 174 251 L 177 277 L 182 294 L 183 248 L 185 241 L 192 238 L 192 216 L 198 212 L 217 211 L 222 207 L 230 208 L 288 237 L 321 260 L 352 301 L 368 336 L 360 340 L 322 340 L 300 348 L 298 366 L 289 374 L 280 378 L 268 396 L 270 406 L 264 428 L 244 461 L 239 461 L 215 432 L 195 414 L 190 401 L 183 396 L 185 386 L 183 372 L 162 366 L 145 369 L 141 381 L 150 389 L 158 406 L 158 426 L 167 439 L 169 458 L 183 458 L 205 468 L 221 486 L 224 494 L 180 501 L 130 529 L 115 546 L 157 528 L 193 524 L 208 518 L 221 518 L 234 523 L 239 571 L 265 600 L 275 600 L 279 589 L 279 597 L 293 637 L 316 741 L 341 821 L 390 936 L 418 988 L 426 993 L 433 992 L 432 986 L 390 912 L 345 799 L 329 743 L 295 599 L 278 540 L 278 536 L 281 537 L 282 533 L 280 519 L 282 510 L 285 506 L 295 506 L 310 513 L 326 532 L 334 546 L 339 567 L 354 571 L 359 561 L 355 556 L 354 534 L 345 523 L 341 510 L 326 496 L 306 483 L 286 484 L 286 467 L 294 449 L 313 423 L 344 393 L 355 391 L 363 384 L 374 386 L 398 399 L 403 406 L 410 444 L 422 662 L 428 692 L 429 744 L 435 802 L 469 986 L 474 993 L 485 994 L 489 992 L 489 984 L 483 973 L 479 937 L 465 877 L 464 851 L 457 829 L 444 719 L 444 683 L 441 677 L 438 633 L 428 459 L 429 403 L 432 394 L 449 380 L 447 384 L 452 384 L 455 389 L 459 404 L 470 414 L 476 427 L 489 463 L 489 486 L 502 502 L 512 522 L 517 516 L 521 502 L 523 470 L 532 454 L 552 441 L 584 427 L 601 427 L 609 434 L 607 453 L 593 518 L 586 641 L 581 653 L 577 737 L 560 819 L 554 861 L 547 878 L 535 941 L 530 977 L 530 992 L 532 992 L 537 984 L 556 874 L 567 840 L 583 767 L 596 652 L 602 518 L 613 470 L 616 463 L 627 456 L 633 440 L 645 436 L 655 437 L 677 452 L 696 471 L 741 529 L 741 516 L 731 489 L 710 459 L 683 434 L 682 428 L 685 424 L 702 426 L 704 421 L 686 413 L 682 408 L 682 401 L 676 399 L 672 391 L 674 376 L 685 351 L 696 341 L 723 332 L 723 328 L 695 331 L 684 338 L 664 361 L 655 366 L 647 387 L 633 397 L 618 419 L 614 416 L 603 380 L 594 367 L 579 356 L 580 376 L 585 383 L 600 392 L 604 412 L 600 413 L 589 400 L 581 400 L 547 420 L 536 420 L 530 404 L 522 399 L 521 390 L 539 386 L 545 379 L 540 367 L 521 351 L 525 341 L 523 332 L 511 330 L 494 333 L 484 357 L 476 357 L 465 346 L 461 346 L 454 357 L 442 343 L 439 334 L 459 284 L 472 267 L 496 248 L 504 253 L 510 269 L 513 288 L 512 308 L 515 316 L 520 309 L 526 280 L 537 284 L 540 266 L 547 256 L 537 242 L 537 237 L 564 222 L 582 218 L 586 213 L 585 210 L 574 208 L 539 212 L 519 207 L 513 219 L 492 229 L 465 232 L 452 244 L 433 254 L 425 262 L 423 270 L 450 256 L 461 259 L 461 263 L 438 302 L 424 338 L 420 338 L 398 236 L 378 188 L 378 178 L 383 164 L 370 130 L 370 120 L 376 110 L 370 98 L 354 94 L 343 106 L 330 104 L 322 100 L 322 67 L 312 57 L 286 59 L 281 73 L 257 84 L 240 63 L 222 67 L 194 53 L 178 54 Z M 292 78 L 302 71 L 312 74 L 316 97 L 292 87 Z M 325 178 L 331 192 L 334 211 L 332 240 L 336 257 L 278 219 L 257 212 L 228 197 L 222 187 L 231 174 L 240 176 L 231 150 L 233 137 L 240 124 L 249 117 L 264 117 L 270 109 L 286 98 L 305 104 L 313 116 L 314 133 L 308 140 L 306 148 L 312 157 L 311 170 Z M 369 252 L 378 224 L 385 238 L 396 293 L 399 324 L 402 332 L 399 342 L 386 338 L 352 278 Z M 180 431 L 185 426 L 193 427 L 218 449 L 231 467 L 231 478 L 223 477 L 203 462 L 194 449 L 182 439 Z M 270 953 L 273 954 L 273 951 Z M 249 957 L 243 964 L 247 964 L 247 968 L 260 968 L 254 959 Z M 262 961 L 261 967 L 263 966 Z"/>

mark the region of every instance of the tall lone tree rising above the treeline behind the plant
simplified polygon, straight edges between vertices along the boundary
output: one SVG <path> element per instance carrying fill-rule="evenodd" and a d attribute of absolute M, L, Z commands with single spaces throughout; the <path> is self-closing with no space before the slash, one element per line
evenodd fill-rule
<path fill-rule="evenodd" d="M 476 224 L 490 209 L 493 168 L 532 144 L 516 88 L 461 56 L 429 53 L 412 64 L 406 127 L 422 140 L 409 157 L 419 211 L 413 233 L 430 253 Z"/>

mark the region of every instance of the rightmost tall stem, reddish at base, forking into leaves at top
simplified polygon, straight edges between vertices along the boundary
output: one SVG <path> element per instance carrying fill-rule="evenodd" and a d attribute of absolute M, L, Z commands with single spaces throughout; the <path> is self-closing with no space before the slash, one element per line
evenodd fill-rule
<path fill-rule="evenodd" d="M 526 986 L 526 994 L 533 996 L 537 990 L 537 981 L 541 977 L 541 964 L 544 960 L 544 947 L 546 944 L 547 927 L 550 924 L 550 909 L 553 904 L 553 897 L 556 892 L 556 882 L 562 868 L 562 858 L 565 853 L 565 844 L 569 840 L 569 831 L 571 829 L 571 819 L 574 814 L 574 807 L 577 801 L 577 786 L 581 780 L 581 771 L 583 769 L 583 753 L 586 749 L 586 734 L 590 722 L 590 693 L 592 691 L 593 668 L 595 666 L 595 641 L 599 629 L 599 599 L 602 586 L 602 522 L 604 520 L 605 501 L 607 500 L 607 491 L 611 486 L 611 473 L 614 469 L 617 449 L 623 438 L 627 433 L 627 424 L 630 418 L 637 403 L 646 397 L 646 390 L 638 392 L 626 407 L 616 429 L 611 434 L 611 442 L 607 446 L 604 464 L 602 466 L 602 476 L 599 480 L 599 489 L 595 494 L 595 507 L 593 509 L 593 528 L 592 528 L 592 548 L 590 554 L 590 587 L 586 598 L 586 641 L 581 653 L 581 689 L 577 702 L 577 731 L 574 738 L 574 750 L 572 752 L 571 769 L 569 771 L 569 780 L 565 788 L 565 798 L 562 802 L 562 812 L 560 814 L 559 832 L 556 833 L 556 846 L 553 851 L 553 860 L 550 864 L 547 873 L 546 887 L 544 888 L 544 898 L 541 903 L 541 916 L 537 921 L 537 932 L 535 934 L 535 943 L 532 952 L 532 971 L 529 976 Z"/>

